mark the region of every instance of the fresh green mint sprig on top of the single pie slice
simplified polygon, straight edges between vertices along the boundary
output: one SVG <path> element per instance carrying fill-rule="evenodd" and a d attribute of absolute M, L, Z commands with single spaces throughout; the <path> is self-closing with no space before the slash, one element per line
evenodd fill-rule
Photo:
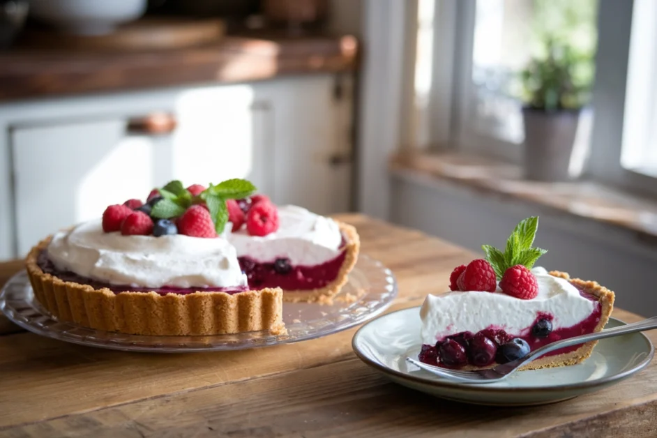
<path fill-rule="evenodd" d="M 511 236 L 506 240 L 506 250 L 504 252 L 494 246 L 481 246 L 498 279 L 502 278 L 508 268 L 517 264 L 522 264 L 527 266 L 527 269 L 531 269 L 538 257 L 547 252 L 547 250 L 532 247 L 537 230 L 538 216 L 532 216 L 521 220 L 516 225 Z"/>

